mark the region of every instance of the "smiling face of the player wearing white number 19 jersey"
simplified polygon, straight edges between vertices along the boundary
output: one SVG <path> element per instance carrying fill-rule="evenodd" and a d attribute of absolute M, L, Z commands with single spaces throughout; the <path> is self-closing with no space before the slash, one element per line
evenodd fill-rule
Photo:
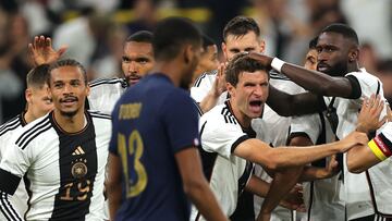
<path fill-rule="evenodd" d="M 89 87 L 77 66 L 60 66 L 51 71 L 50 94 L 54 111 L 61 115 L 72 118 L 76 113 L 83 114 L 88 93 Z"/>

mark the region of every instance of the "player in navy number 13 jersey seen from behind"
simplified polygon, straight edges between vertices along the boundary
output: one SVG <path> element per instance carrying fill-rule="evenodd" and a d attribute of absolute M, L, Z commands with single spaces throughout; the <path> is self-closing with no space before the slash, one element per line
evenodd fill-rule
<path fill-rule="evenodd" d="M 179 88 L 187 89 L 192 82 L 201 52 L 200 33 L 186 20 L 167 19 L 158 23 L 152 46 L 155 73 L 126 90 L 112 114 L 110 217 L 188 220 L 189 198 L 208 220 L 226 220 L 195 148 L 196 108 Z"/>

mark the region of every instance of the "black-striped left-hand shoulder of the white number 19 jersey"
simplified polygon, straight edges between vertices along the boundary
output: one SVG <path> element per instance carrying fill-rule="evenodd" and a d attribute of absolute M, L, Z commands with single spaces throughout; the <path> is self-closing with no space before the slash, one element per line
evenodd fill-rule
<path fill-rule="evenodd" d="M 35 121 L 32 121 L 26 126 L 19 128 L 14 134 L 15 145 L 24 149 L 35 138 L 42 136 L 47 137 L 47 133 L 50 133 L 51 128 L 53 128 L 50 115 L 51 113 L 48 113 Z"/>

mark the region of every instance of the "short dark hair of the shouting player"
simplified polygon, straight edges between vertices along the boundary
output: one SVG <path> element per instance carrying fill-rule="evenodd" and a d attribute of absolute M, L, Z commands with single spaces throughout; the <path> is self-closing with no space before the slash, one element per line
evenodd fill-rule
<path fill-rule="evenodd" d="M 256 71 L 266 71 L 267 75 L 269 75 L 269 69 L 266 65 L 250 58 L 247 53 L 238 53 L 229 62 L 225 69 L 225 81 L 235 87 L 238 84 L 241 73 Z"/>

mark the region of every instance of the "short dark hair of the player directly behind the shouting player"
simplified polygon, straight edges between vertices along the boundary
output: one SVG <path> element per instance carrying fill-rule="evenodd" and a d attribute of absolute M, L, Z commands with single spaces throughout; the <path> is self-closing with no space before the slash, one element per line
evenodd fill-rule
<path fill-rule="evenodd" d="M 254 32 L 257 37 L 260 36 L 260 27 L 256 21 L 247 16 L 235 16 L 223 28 L 223 40 L 226 40 L 229 35 L 244 36 L 248 32 Z"/>

